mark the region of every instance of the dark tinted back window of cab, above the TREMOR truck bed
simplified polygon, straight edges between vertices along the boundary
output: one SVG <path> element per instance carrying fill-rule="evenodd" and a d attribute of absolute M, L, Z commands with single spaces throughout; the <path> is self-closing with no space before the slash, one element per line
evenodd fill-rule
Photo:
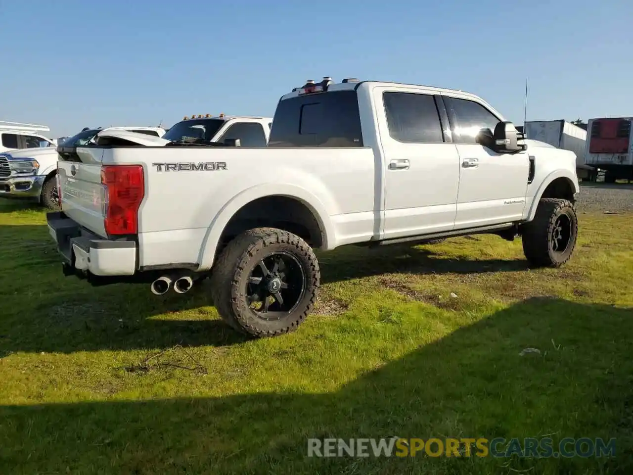
<path fill-rule="evenodd" d="M 279 102 L 271 147 L 362 147 L 356 91 L 308 94 Z"/>

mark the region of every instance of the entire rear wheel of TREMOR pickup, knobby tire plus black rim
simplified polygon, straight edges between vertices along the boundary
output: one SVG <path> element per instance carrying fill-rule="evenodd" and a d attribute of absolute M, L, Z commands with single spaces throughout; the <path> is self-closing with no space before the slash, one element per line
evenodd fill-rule
<path fill-rule="evenodd" d="M 220 317 L 256 337 L 297 329 L 320 284 L 318 261 L 303 239 L 271 227 L 250 229 L 222 251 L 211 274 Z"/>

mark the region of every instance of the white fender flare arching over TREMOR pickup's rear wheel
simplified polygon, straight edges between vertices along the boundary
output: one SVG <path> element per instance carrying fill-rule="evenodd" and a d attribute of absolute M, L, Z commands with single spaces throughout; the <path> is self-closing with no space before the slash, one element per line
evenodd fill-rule
<path fill-rule="evenodd" d="M 287 196 L 301 201 L 313 213 L 323 238 L 323 249 L 332 250 L 336 246 L 334 227 L 330 215 L 322 201 L 304 188 L 291 184 L 261 184 L 250 187 L 231 198 L 220 212 L 213 218 L 204 236 L 200 255 L 199 271 L 210 270 L 215 259 L 218 241 L 230 219 L 242 206 L 266 196 Z"/>

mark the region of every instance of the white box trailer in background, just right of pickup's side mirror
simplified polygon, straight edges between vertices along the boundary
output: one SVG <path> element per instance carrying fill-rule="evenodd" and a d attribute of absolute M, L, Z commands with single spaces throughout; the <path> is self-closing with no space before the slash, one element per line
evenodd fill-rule
<path fill-rule="evenodd" d="M 579 179 L 595 181 L 596 168 L 587 165 L 585 148 L 587 130 L 567 122 L 567 120 L 530 120 L 525 122 L 524 133 L 527 139 L 550 144 L 556 148 L 569 150 L 576 155 L 576 174 Z"/>

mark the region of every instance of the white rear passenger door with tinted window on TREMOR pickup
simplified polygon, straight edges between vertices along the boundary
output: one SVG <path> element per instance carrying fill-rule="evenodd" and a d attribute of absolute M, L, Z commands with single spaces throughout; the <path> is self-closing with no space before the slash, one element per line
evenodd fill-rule
<path fill-rule="evenodd" d="M 460 162 L 440 96 L 376 87 L 385 167 L 383 238 L 450 231 Z"/>

